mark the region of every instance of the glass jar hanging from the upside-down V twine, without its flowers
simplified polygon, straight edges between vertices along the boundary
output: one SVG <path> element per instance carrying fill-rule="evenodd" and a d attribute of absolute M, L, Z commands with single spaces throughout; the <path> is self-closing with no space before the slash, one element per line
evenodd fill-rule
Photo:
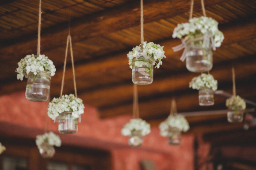
<path fill-rule="evenodd" d="M 61 134 L 74 134 L 77 132 L 78 118 L 74 118 L 71 111 L 61 113 L 58 121 Z"/>

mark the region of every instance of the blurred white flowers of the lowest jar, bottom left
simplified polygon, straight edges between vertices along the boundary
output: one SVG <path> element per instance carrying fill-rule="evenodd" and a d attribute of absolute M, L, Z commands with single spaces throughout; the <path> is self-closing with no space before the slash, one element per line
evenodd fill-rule
<path fill-rule="evenodd" d="M 48 143 L 49 145 L 60 147 L 62 141 L 60 137 L 53 132 L 44 133 L 43 135 L 36 136 L 36 145 L 39 148 L 43 143 Z"/>

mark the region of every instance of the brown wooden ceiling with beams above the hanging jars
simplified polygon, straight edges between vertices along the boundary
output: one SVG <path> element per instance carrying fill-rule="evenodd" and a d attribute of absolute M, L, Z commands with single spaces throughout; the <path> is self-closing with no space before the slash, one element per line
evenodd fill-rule
<path fill-rule="evenodd" d="M 225 114 L 207 115 L 226 109 L 226 96 L 216 94 L 214 106 L 198 105 L 198 90 L 189 88 L 189 82 L 199 74 L 189 72 L 179 60 L 182 51 L 171 48 L 181 43 L 171 35 L 178 23 L 189 19 L 190 2 L 144 0 L 144 39 L 164 46 L 167 58 L 154 68 L 152 84 L 138 86 L 140 117 L 158 125 L 169 115 L 175 97 L 178 112 L 191 113 L 188 119 L 195 132 L 242 128 L 242 123 L 228 123 Z M 234 66 L 237 94 L 256 102 L 256 0 L 204 0 L 204 4 L 206 15 L 219 22 L 225 37 L 213 52 L 210 71 L 218 90 L 232 94 Z M 17 80 L 15 70 L 20 59 L 36 54 L 38 6 L 38 0 L 0 0 L 0 95 L 26 88 L 26 80 Z M 193 16 L 202 16 L 200 0 L 194 0 Z M 69 25 L 78 97 L 97 107 L 101 118 L 131 114 L 133 83 L 126 54 L 140 43 L 140 1 L 42 0 L 41 54 L 57 68 L 51 98 L 60 96 Z M 67 62 L 64 94 L 74 93 L 70 57 Z M 195 111 L 204 115 L 192 116 Z"/>

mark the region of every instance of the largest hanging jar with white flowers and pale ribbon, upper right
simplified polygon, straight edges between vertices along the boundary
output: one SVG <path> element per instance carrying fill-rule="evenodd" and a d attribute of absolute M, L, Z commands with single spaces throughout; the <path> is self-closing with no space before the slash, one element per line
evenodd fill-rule
<path fill-rule="evenodd" d="M 181 61 L 186 60 L 186 67 L 191 72 L 206 72 L 212 69 L 212 50 L 220 47 L 224 36 L 218 30 L 218 22 L 210 17 L 191 18 L 189 22 L 178 24 L 173 31 L 173 38 L 179 38 L 181 45 L 174 51 L 184 49 Z"/>

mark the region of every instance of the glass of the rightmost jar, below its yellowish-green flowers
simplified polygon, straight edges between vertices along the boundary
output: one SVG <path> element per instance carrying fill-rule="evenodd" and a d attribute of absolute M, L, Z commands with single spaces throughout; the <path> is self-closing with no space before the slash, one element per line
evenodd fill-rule
<path fill-rule="evenodd" d="M 244 110 L 242 107 L 237 107 L 236 109 L 229 107 L 227 117 L 230 123 L 242 122 L 244 119 Z"/>

